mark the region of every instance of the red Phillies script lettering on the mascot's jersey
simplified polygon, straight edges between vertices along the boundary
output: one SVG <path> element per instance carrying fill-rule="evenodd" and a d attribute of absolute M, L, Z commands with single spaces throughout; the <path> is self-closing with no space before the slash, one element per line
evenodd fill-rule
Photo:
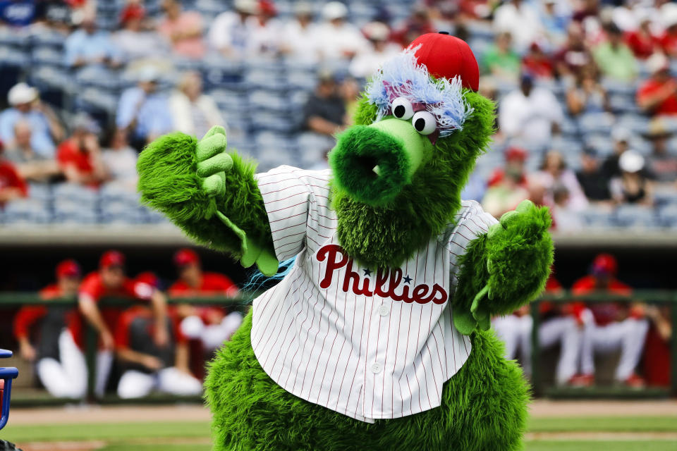
<path fill-rule="evenodd" d="M 341 288 L 343 292 L 348 292 L 350 289 L 353 290 L 355 295 L 389 297 L 395 301 L 404 301 L 408 304 L 411 302 L 444 304 L 448 298 L 444 288 L 437 283 L 432 288 L 423 283 L 415 287 L 410 285 L 411 278 L 409 275 L 403 278 L 401 268 L 391 270 L 379 268 L 376 273 L 374 290 L 370 290 L 370 279 L 367 277 L 362 279 L 360 273 L 353 271 L 353 259 L 348 258 L 348 254 L 343 250 L 343 247 L 338 245 L 322 246 L 317 251 L 317 261 L 324 260 L 327 260 L 327 269 L 324 271 L 324 278 L 319 282 L 320 288 L 329 288 L 334 271 L 346 266 L 346 276 L 343 277 L 343 287 Z M 372 272 L 370 269 L 363 269 L 362 271 L 365 272 L 365 276 L 370 276 Z M 361 285 L 360 279 L 362 279 Z M 396 292 L 398 289 L 401 289 L 399 294 Z"/>

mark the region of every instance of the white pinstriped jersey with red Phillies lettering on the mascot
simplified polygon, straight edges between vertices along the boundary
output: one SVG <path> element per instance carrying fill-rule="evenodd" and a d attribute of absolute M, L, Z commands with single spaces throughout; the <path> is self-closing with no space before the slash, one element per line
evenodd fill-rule
<path fill-rule="evenodd" d="M 257 175 L 276 256 L 288 275 L 255 299 L 252 347 L 264 371 L 304 400 L 361 421 L 438 407 L 468 359 L 453 327 L 456 259 L 496 223 L 477 202 L 400 268 L 349 259 L 336 239 L 329 171 L 281 166 Z"/>

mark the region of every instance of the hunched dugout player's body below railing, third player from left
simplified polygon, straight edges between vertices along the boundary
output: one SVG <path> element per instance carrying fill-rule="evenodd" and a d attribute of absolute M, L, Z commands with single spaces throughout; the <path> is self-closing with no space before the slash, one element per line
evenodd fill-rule
<path fill-rule="evenodd" d="M 158 346 L 152 339 L 157 328 L 167 342 Z M 167 318 L 159 325 L 153 312 L 135 306 L 123 311 L 115 329 L 116 355 L 123 365 L 118 396 L 133 399 L 152 390 L 171 395 L 200 395 L 202 383 L 190 373 L 188 342 L 176 321 Z"/>

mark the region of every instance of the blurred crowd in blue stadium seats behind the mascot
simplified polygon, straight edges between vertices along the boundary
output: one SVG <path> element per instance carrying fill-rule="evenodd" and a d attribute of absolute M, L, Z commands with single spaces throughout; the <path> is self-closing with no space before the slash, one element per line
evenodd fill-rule
<path fill-rule="evenodd" d="M 0 19 L 4 223 L 162 221 L 134 163 L 171 130 L 227 125 L 262 170 L 321 168 L 365 78 L 449 30 L 499 105 L 465 198 L 530 198 L 559 230 L 677 224 L 669 1 L 15 0 Z"/>

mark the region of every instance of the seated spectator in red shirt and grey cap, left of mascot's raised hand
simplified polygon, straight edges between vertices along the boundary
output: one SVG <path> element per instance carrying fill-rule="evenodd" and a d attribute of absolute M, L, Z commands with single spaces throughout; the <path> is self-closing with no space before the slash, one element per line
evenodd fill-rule
<path fill-rule="evenodd" d="M 108 178 L 99 147 L 100 131 L 86 113 L 73 119 L 73 134 L 56 149 L 56 161 L 68 182 L 99 187 Z"/>

